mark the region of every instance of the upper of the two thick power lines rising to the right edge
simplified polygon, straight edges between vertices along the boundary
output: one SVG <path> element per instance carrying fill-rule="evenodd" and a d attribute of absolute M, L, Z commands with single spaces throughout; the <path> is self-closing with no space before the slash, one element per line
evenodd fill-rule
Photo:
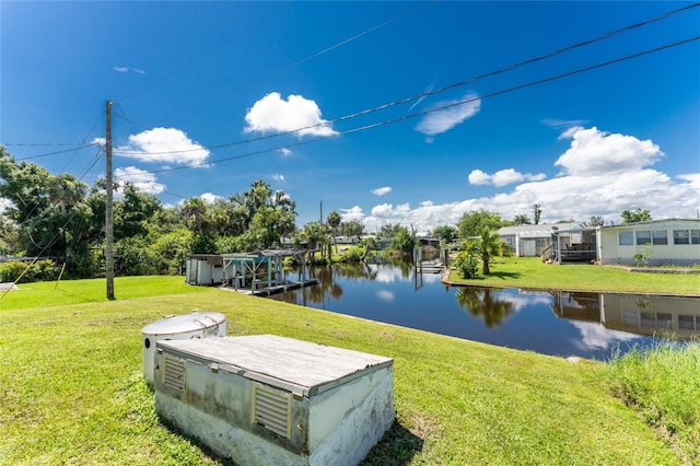
<path fill-rule="evenodd" d="M 467 79 L 467 80 L 464 80 L 464 81 L 459 81 L 459 82 L 456 82 L 456 83 L 453 83 L 453 84 L 450 84 L 450 85 L 446 85 L 446 86 L 443 86 L 443 88 L 440 88 L 440 89 L 436 89 L 436 90 L 427 91 L 427 92 L 423 92 L 423 93 L 420 93 L 420 94 L 417 94 L 417 95 L 412 95 L 410 97 L 400 98 L 398 101 L 389 102 L 387 104 L 383 104 L 383 105 L 380 105 L 380 106 L 376 106 L 376 107 L 372 107 L 372 108 L 368 108 L 368 109 L 364 109 L 364 110 L 355 112 L 353 114 L 340 116 L 340 117 L 337 117 L 337 118 L 334 118 L 334 119 L 329 119 L 329 120 L 320 123 L 320 124 L 305 126 L 305 127 L 296 128 L 296 129 L 289 130 L 289 131 L 276 132 L 273 135 L 259 136 L 257 138 L 245 139 L 245 140 L 242 140 L 242 141 L 234 141 L 234 142 L 228 142 L 228 143 L 222 143 L 222 144 L 214 144 L 214 145 L 209 145 L 209 147 L 198 148 L 198 149 L 184 149 L 184 150 L 179 150 L 179 151 L 163 151 L 163 152 L 115 151 L 115 153 L 118 153 L 119 155 L 164 155 L 164 154 L 177 154 L 177 153 L 197 152 L 197 151 L 201 151 L 201 150 L 221 149 L 221 148 L 240 145 L 240 144 L 245 144 L 245 143 L 250 143 L 250 142 L 258 142 L 258 141 L 262 141 L 262 140 L 267 140 L 267 139 L 277 138 L 277 137 L 280 137 L 280 136 L 294 135 L 294 133 L 298 133 L 298 132 L 301 132 L 301 131 L 318 128 L 318 127 L 322 127 L 322 126 L 329 126 L 329 125 L 332 125 L 332 124 L 338 123 L 338 121 L 345 121 L 345 120 L 348 120 L 348 119 L 352 119 L 352 118 L 357 118 L 357 117 L 360 117 L 360 116 L 369 115 L 369 114 L 372 114 L 372 113 L 381 112 L 381 110 L 384 110 L 384 109 L 387 109 L 387 108 L 392 108 L 392 107 L 395 107 L 395 106 L 398 106 L 398 105 L 407 104 L 407 103 L 412 102 L 412 101 L 417 101 L 419 98 L 429 97 L 429 96 L 432 96 L 432 95 L 435 95 L 435 94 L 440 94 L 440 93 L 443 93 L 443 92 L 446 92 L 446 91 L 450 91 L 450 90 L 454 90 L 454 89 L 457 89 L 457 88 L 465 86 L 467 84 L 472 84 L 472 83 L 475 83 L 477 81 L 481 81 L 481 80 L 487 79 L 487 78 L 491 78 L 491 77 L 494 77 L 494 75 L 498 75 L 498 74 L 502 74 L 502 73 L 515 70 L 517 68 L 524 67 L 526 65 L 530 65 L 530 63 L 535 63 L 535 62 L 538 62 L 538 61 L 542 61 L 545 59 L 561 55 L 563 53 L 567 53 L 567 51 L 570 51 L 570 50 L 573 50 L 573 49 L 576 49 L 576 48 L 581 48 L 581 47 L 584 47 L 584 46 L 587 46 L 587 45 L 591 45 L 591 44 L 595 44 L 597 42 L 602 42 L 602 40 L 608 39 L 608 38 L 610 38 L 610 37 L 612 37 L 615 35 L 621 34 L 623 32 L 628 32 L 628 31 L 631 31 L 631 30 L 634 30 L 634 28 L 638 28 L 638 27 L 642 27 L 642 26 L 655 23 L 657 21 L 665 20 L 665 19 L 670 18 L 670 16 L 673 16 L 675 14 L 685 12 L 687 10 L 690 10 L 690 9 L 693 9 L 693 8 L 697 8 L 697 7 L 700 7 L 700 3 L 693 3 L 693 4 L 690 4 L 690 5 L 687 5 L 687 7 L 684 7 L 684 8 L 680 8 L 680 9 L 664 13 L 664 14 L 658 15 L 656 18 L 653 18 L 651 20 L 646 20 L 646 21 L 643 21 L 643 22 L 640 22 L 640 23 L 635 23 L 635 24 L 632 24 L 632 25 L 629 25 L 629 26 L 625 26 L 622 28 L 615 30 L 612 32 L 606 33 L 606 34 L 604 34 L 602 36 L 598 36 L 596 38 L 592 38 L 592 39 L 587 39 L 587 40 L 584 40 L 584 42 L 581 42 L 581 43 L 578 43 L 578 44 L 574 44 L 574 45 L 565 46 L 565 47 L 562 47 L 562 48 L 557 49 L 555 51 L 551 51 L 551 53 L 548 53 L 548 54 L 545 54 L 545 55 L 540 55 L 538 57 L 530 58 L 530 59 L 527 59 L 527 60 L 524 60 L 524 61 L 508 66 L 505 68 L 501 68 L 501 69 L 495 70 L 495 71 L 490 71 L 488 73 L 483 73 L 483 74 L 480 74 L 480 75 L 477 75 L 477 77 L 474 77 L 474 78 L 470 78 L 470 79 Z M 394 20 L 392 20 L 392 21 L 394 21 Z M 132 123 L 132 121 L 130 121 L 130 123 Z M 201 165 L 205 165 L 205 163 L 202 163 Z M 200 165 L 197 165 L 197 166 L 200 166 Z"/>

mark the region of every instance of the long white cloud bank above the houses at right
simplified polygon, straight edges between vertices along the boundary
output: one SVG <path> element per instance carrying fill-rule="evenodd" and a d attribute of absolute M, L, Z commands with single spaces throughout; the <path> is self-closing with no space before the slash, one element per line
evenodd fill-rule
<path fill-rule="evenodd" d="M 700 206 L 700 173 L 672 178 L 649 167 L 663 156 L 657 144 L 633 136 L 608 135 L 596 128 L 572 128 L 565 138 L 573 138 L 571 147 L 563 154 L 551 155 L 552 167 L 565 168 L 556 177 L 546 179 L 544 174 L 523 174 L 516 168 L 492 175 L 475 170 L 469 174 L 472 185 L 488 184 L 497 188 L 503 188 L 506 182 L 515 185 L 491 196 L 440 205 L 421 202 L 411 209 L 408 203 L 396 207 L 381 203 L 369 209 L 369 214 L 361 206 L 347 212 L 352 220 L 361 221 L 368 232 L 390 222 L 412 226 L 419 233 L 439 225 L 455 225 L 465 212 L 478 209 L 498 212 L 508 220 L 517 214 L 532 214 L 534 203 L 540 205 L 544 223 L 586 221 L 593 215 L 619 223 L 622 210 L 638 207 L 649 209 L 655 219 L 696 218 Z"/>

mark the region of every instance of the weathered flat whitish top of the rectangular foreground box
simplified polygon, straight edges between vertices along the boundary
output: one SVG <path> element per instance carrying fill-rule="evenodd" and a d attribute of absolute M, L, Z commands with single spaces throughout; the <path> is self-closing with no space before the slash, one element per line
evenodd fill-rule
<path fill-rule="evenodd" d="M 276 335 L 159 341 L 158 349 L 305 396 L 325 392 L 394 360 Z"/>

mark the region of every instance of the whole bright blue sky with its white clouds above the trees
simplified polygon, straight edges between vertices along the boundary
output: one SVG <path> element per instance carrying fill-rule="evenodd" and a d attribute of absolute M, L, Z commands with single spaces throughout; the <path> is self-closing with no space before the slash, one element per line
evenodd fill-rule
<path fill-rule="evenodd" d="M 691 39 L 700 8 L 493 74 L 690 4 L 5 0 L 0 142 L 92 184 L 112 101 L 115 176 L 164 205 L 264 179 L 298 226 L 696 218 L 700 40 L 528 84 Z"/>

